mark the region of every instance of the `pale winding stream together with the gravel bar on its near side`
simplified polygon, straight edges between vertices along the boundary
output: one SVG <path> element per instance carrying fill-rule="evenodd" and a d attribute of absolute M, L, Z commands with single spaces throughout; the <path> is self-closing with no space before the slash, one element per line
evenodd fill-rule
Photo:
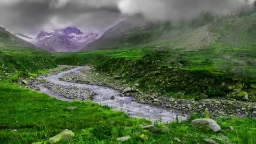
<path fill-rule="evenodd" d="M 188 117 L 185 111 L 161 108 L 135 102 L 133 101 L 134 97 L 131 95 L 127 97 L 127 94 L 111 89 L 107 86 L 66 81 L 67 79 L 70 79 L 69 77 L 84 74 L 84 71 L 86 70 L 90 70 L 90 67 L 67 68 L 66 71 L 62 71 L 58 74 L 51 73 L 41 76 L 32 82 L 29 87 L 63 101 L 72 101 L 74 99 L 93 99 L 92 101 L 99 103 L 99 105 L 109 106 L 114 110 L 124 111 L 131 117 L 145 118 L 151 122 L 160 121 L 168 123 L 177 121 L 177 119 L 179 121 L 185 121 Z M 95 75 L 99 74 L 95 73 Z M 93 77 L 90 78 L 93 79 Z"/>

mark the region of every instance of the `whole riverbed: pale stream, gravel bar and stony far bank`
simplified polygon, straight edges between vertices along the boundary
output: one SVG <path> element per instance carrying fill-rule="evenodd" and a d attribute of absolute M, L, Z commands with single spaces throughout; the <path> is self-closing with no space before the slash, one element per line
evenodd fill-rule
<path fill-rule="evenodd" d="M 189 113 L 210 117 L 256 117 L 256 103 L 226 99 L 177 99 L 141 92 L 139 84 L 129 85 L 118 76 L 97 73 L 91 67 L 66 67 L 38 77 L 31 89 L 47 93 L 63 101 L 93 100 L 102 106 L 125 111 L 132 117 L 152 122 L 185 120 Z"/>

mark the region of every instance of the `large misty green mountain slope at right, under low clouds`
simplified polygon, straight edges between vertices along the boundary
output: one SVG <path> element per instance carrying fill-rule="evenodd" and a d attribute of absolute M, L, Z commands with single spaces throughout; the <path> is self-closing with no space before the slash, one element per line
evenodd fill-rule
<path fill-rule="evenodd" d="M 255 23 L 256 13 L 252 10 L 223 18 L 206 12 L 190 21 L 146 23 L 145 26 L 122 21 L 83 51 L 145 45 L 198 50 L 214 43 L 251 47 L 256 45 Z"/>

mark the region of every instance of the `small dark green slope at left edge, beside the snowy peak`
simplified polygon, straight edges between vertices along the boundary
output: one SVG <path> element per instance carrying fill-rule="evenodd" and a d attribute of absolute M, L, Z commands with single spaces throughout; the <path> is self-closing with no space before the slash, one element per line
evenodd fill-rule
<path fill-rule="evenodd" d="M 2 46 L 2 45 L 21 45 L 21 46 L 26 46 L 26 47 L 37 47 L 36 45 L 31 44 L 13 34 L 11 34 L 9 31 L 6 31 L 5 28 L 0 27 L 0 46 Z"/>

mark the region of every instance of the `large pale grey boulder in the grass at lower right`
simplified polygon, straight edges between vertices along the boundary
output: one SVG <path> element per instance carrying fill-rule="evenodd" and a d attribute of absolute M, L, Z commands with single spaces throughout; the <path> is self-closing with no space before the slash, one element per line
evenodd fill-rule
<path fill-rule="evenodd" d="M 220 126 L 210 118 L 199 118 L 192 121 L 192 124 L 200 130 L 212 130 L 214 132 L 218 132 L 221 130 Z"/>

